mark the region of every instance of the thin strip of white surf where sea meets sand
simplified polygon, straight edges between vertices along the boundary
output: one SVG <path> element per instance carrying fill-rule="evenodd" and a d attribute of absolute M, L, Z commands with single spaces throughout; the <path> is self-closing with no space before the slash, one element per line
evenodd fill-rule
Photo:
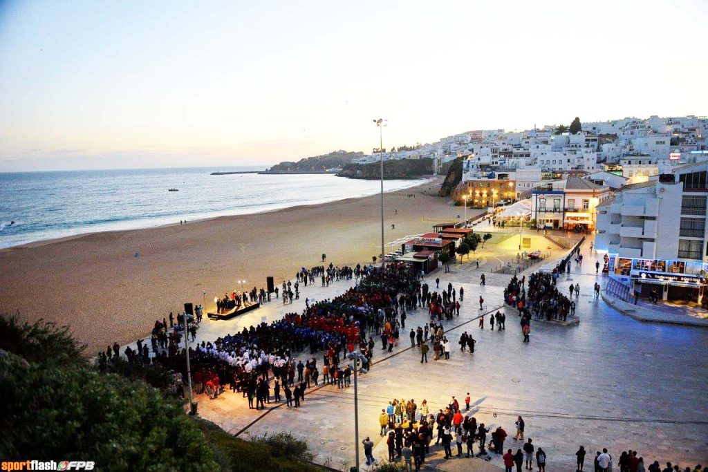
<path fill-rule="evenodd" d="M 257 172 L 261 173 L 261 172 Z M 404 187 L 404 188 L 398 188 L 395 190 L 388 190 L 384 191 L 384 195 L 387 195 L 389 193 L 393 192 L 399 192 L 402 190 L 411 190 L 413 188 L 419 187 L 421 185 L 426 185 L 429 183 L 432 183 L 436 180 L 438 176 L 436 175 L 423 175 L 421 176 L 420 179 L 423 179 L 421 183 L 418 183 L 418 185 L 411 185 L 409 187 Z M 406 179 L 396 179 L 396 180 L 406 180 Z M 419 179 L 416 179 L 419 180 Z M 336 198 L 334 200 L 327 200 L 326 202 L 316 202 L 316 203 L 304 203 L 301 205 L 292 205 L 290 207 L 278 207 L 278 208 L 271 208 L 271 209 L 256 209 L 255 212 L 244 212 L 244 213 L 234 213 L 234 214 L 224 214 L 224 215 L 218 215 L 218 216 L 212 216 L 212 217 L 204 217 L 204 218 L 197 218 L 189 221 L 189 224 L 194 224 L 194 223 L 200 223 L 202 221 L 210 221 L 210 220 L 217 220 L 217 219 L 222 219 L 222 218 L 232 218 L 232 217 L 240 217 L 244 215 L 250 215 L 250 214 L 267 214 L 267 213 L 273 213 L 273 212 L 280 212 L 281 210 L 285 209 L 290 209 L 290 208 L 304 208 L 304 207 L 315 207 L 317 205 L 326 205 L 328 203 L 332 202 L 341 202 L 344 200 L 356 200 L 359 198 L 366 198 L 366 197 L 372 197 L 374 195 L 380 195 L 380 193 L 375 193 L 373 195 L 364 195 L 360 197 L 343 197 L 343 198 Z M 0 248 L 0 255 L 4 251 L 13 251 L 16 249 L 22 249 L 22 248 L 35 248 L 39 246 L 46 246 L 47 244 L 54 244 L 54 243 L 62 243 L 64 241 L 71 241 L 72 239 L 76 238 L 81 238 L 84 236 L 92 236 L 95 234 L 104 234 L 104 233 L 120 233 L 120 232 L 125 232 L 125 231 L 142 231 L 145 229 L 156 229 L 156 228 L 169 228 L 170 226 L 180 226 L 179 223 L 169 223 L 169 224 L 156 224 L 154 226 L 142 226 L 138 228 L 127 228 L 127 229 L 106 229 L 103 231 L 88 231 L 86 233 L 78 233 L 78 234 L 72 234 L 69 236 L 60 236 L 58 238 L 47 238 L 47 239 L 40 239 L 38 241 L 30 241 L 28 243 L 22 243 L 18 244 L 16 246 L 8 246 L 6 248 Z"/>

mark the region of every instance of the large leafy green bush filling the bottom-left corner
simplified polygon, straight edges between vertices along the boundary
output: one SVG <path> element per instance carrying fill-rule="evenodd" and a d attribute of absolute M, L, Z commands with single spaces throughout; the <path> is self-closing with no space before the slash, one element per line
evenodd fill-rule
<path fill-rule="evenodd" d="M 90 459 L 98 470 L 212 471 L 204 435 L 180 403 L 91 367 L 0 359 L 0 456 Z"/>

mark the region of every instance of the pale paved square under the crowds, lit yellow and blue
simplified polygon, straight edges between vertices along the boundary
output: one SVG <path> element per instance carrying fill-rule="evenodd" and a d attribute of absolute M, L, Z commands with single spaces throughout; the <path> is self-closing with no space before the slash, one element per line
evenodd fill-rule
<path fill-rule="evenodd" d="M 459 318 L 443 322 L 457 348 L 449 361 L 435 362 L 431 355 L 428 364 L 421 364 L 418 349 L 409 349 L 404 333 L 393 355 L 377 347 L 376 364 L 369 374 L 359 377 L 360 439 L 370 436 L 379 441 L 378 415 L 394 397 L 414 398 L 418 405 L 425 398 L 433 413 L 444 408 L 450 396 L 464 398 L 469 391 L 474 408 L 468 414 L 488 426 L 503 425 L 509 433 L 505 449 L 520 447 L 511 437 L 516 416 L 523 415 L 527 437 L 548 454 L 549 472 L 575 470 L 574 453 L 580 444 L 588 451 L 586 466 L 590 467 L 591 456 L 602 447 L 608 447 L 613 456 L 636 449 L 645 461 L 707 464 L 708 395 L 704 392 L 708 362 L 702 351 L 708 330 L 641 323 L 617 313 L 591 294 L 592 284 L 600 280 L 604 285 L 606 278 L 595 276 L 595 256 L 589 255 L 587 247 L 584 253 L 582 270 L 574 265 L 571 274 L 559 280 L 561 287 L 570 280 L 581 285 L 576 311 L 581 322 L 565 327 L 533 321 L 528 345 L 521 342 L 515 310 L 501 308 L 507 314 L 504 331 L 489 330 L 489 323 L 480 330 L 474 321 L 480 313 L 480 294 L 487 310 L 501 307 L 510 275 L 485 272 L 487 284 L 480 287 L 479 273 L 487 265 L 477 270 L 469 263 L 453 266 L 450 274 L 439 271 L 426 277 L 431 285 L 440 277 L 441 287 L 448 279 L 458 290 L 464 286 Z M 303 287 L 301 298 L 292 305 L 275 301 L 242 318 L 205 321 L 198 340 L 234 333 L 259 323 L 262 317 L 272 321 L 283 313 L 301 311 L 306 297 L 333 297 L 350 284 L 353 281 Z M 427 310 L 418 309 L 409 313 L 406 328 L 423 326 L 426 321 Z M 464 331 L 477 340 L 474 354 L 459 352 L 456 343 Z M 321 359 L 321 353 L 316 356 Z M 227 391 L 213 401 L 200 396 L 199 410 L 204 418 L 233 433 L 291 431 L 307 439 L 317 462 L 348 470 L 354 462 L 353 393 L 353 386 L 316 389 L 307 394 L 302 408 L 274 408 L 245 431 L 263 412 L 249 410 L 240 393 Z M 381 446 L 377 444 L 375 454 L 383 459 L 386 451 Z M 363 451 L 360 457 L 363 464 Z M 492 464 L 501 466 L 501 458 Z"/>

